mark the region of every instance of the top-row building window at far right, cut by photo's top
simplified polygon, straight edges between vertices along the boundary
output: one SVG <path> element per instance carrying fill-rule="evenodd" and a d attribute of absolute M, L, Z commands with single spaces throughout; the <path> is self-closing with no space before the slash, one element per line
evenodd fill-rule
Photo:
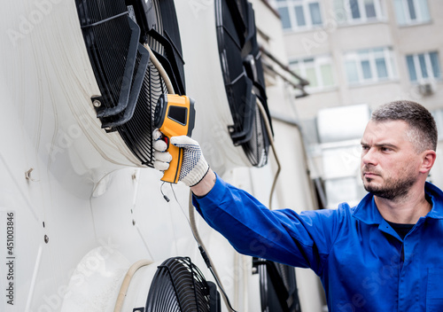
<path fill-rule="evenodd" d="M 431 20 L 428 0 L 394 0 L 399 25 L 423 24 Z"/>

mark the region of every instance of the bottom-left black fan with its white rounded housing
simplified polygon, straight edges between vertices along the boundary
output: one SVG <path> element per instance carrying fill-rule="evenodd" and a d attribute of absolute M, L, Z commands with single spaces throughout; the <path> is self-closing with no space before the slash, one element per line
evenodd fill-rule
<path fill-rule="evenodd" d="M 128 267 L 128 259 L 115 250 L 78 283 L 90 259 L 103 253 L 104 247 L 99 246 L 83 256 L 59 311 L 221 312 L 217 286 L 206 281 L 189 257 L 140 260 Z"/>

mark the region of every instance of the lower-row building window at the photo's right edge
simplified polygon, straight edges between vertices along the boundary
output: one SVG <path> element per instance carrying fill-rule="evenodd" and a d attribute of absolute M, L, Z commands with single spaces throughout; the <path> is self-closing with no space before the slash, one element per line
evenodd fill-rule
<path fill-rule="evenodd" d="M 439 53 L 419 53 L 406 56 L 411 82 L 426 82 L 441 79 Z"/>

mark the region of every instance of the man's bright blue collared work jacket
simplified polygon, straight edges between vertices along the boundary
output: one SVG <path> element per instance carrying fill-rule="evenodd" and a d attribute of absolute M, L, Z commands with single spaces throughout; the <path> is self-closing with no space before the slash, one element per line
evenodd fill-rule
<path fill-rule="evenodd" d="M 239 253 L 313 269 L 330 312 L 442 312 L 443 192 L 431 183 L 425 192 L 431 212 L 404 239 L 371 194 L 356 207 L 271 211 L 217 176 L 194 206 Z"/>

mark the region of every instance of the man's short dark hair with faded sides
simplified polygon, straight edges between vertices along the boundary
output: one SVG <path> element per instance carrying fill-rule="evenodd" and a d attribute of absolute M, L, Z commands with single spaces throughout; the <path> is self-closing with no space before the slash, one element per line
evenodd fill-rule
<path fill-rule="evenodd" d="M 406 121 L 407 136 L 417 152 L 437 149 L 437 126 L 431 113 L 413 101 L 400 100 L 379 106 L 371 116 L 372 121 Z"/>

